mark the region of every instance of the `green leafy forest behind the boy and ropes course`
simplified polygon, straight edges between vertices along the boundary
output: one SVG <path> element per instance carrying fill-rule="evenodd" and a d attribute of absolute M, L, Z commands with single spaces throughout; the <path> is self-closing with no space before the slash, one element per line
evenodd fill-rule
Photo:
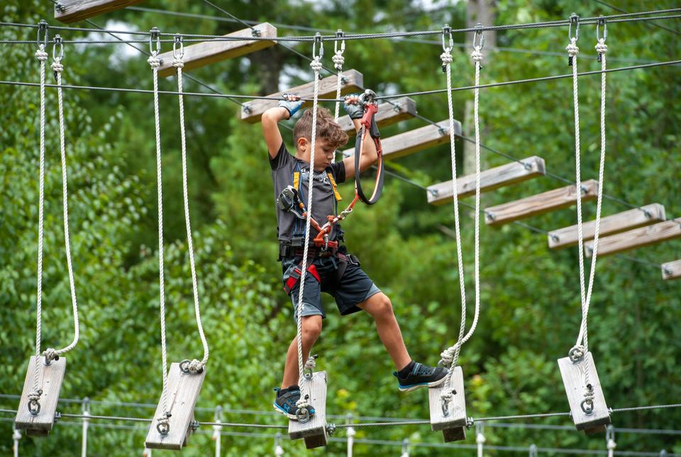
<path fill-rule="evenodd" d="M 625 11 L 677 6 L 674 1 L 617 1 Z M 279 35 L 307 35 L 288 25 L 346 32 L 433 30 L 449 23 L 470 23 L 465 1 L 220 1 L 238 18 L 268 21 Z M 527 23 L 617 13 L 600 1 L 499 0 L 489 4 L 494 23 Z M 123 9 L 93 18 L 116 30 L 224 34 L 243 28 L 201 1 L 149 0 L 145 9 Z M 199 16 L 171 14 L 192 13 Z M 2 21 L 52 25 L 50 1 L 6 0 Z M 467 17 L 468 16 L 468 17 Z M 487 25 L 487 24 L 485 24 Z M 675 60 L 680 55 L 677 21 L 611 24 L 609 67 Z M 74 26 L 91 27 L 88 23 Z M 595 28 L 580 30 L 580 71 L 600 69 Z M 52 35 L 54 31 L 52 31 Z M 72 31 L 66 39 L 101 38 Z M 34 40 L 35 29 L 0 28 L 2 40 Z M 425 40 L 421 43 L 419 40 Z M 364 75 L 365 86 L 379 94 L 443 89 L 438 35 L 419 40 L 352 40 L 346 43 L 345 68 Z M 470 36 L 454 35 L 453 85 L 472 84 Z M 492 38 L 489 38 L 490 43 Z M 497 33 L 482 64 L 483 84 L 570 72 L 567 28 L 533 28 Z M 144 43 L 137 45 L 146 49 Z M 311 45 L 293 47 L 311 55 Z M 169 50 L 164 43 L 162 50 Z M 324 63 L 331 67 L 333 46 L 326 44 Z M 51 50 L 48 50 L 51 52 Z M 2 45 L 0 79 L 38 82 L 35 45 Z M 119 45 L 66 45 L 64 84 L 151 89 L 146 56 Z M 266 95 L 311 79 L 309 63 L 282 45 L 188 72 L 224 94 Z M 326 73 L 325 73 L 326 75 Z M 48 82 L 52 79 L 48 71 Z M 580 78 L 582 179 L 597 177 L 599 156 L 599 77 Z M 662 203 L 669 217 L 681 214 L 679 142 L 681 94 L 678 67 L 617 72 L 608 76 L 607 162 L 604 188 L 635 205 Z M 176 89 L 174 77 L 160 89 Z M 185 78 L 186 91 L 209 91 Z M 547 169 L 574 180 L 574 129 L 570 79 L 497 87 L 480 94 L 483 144 L 523 158 L 538 155 Z M 72 337 L 70 293 L 62 235 L 56 91 L 47 90 L 45 181 L 45 273 L 43 280 L 43 348 L 61 347 Z M 472 91 L 453 93 L 455 118 L 470 118 Z M 445 94 L 416 98 L 419 113 L 431 120 L 447 118 Z M 272 412 L 272 388 L 279 384 L 287 342 L 295 333 L 291 306 L 281 288 L 277 263 L 272 184 L 260 125 L 243 123 L 239 106 L 226 98 L 185 97 L 189 195 L 199 274 L 201 311 L 211 359 L 198 406 L 208 409 Z M 169 359 L 200 356 L 192 305 L 191 278 L 182 207 L 177 98 L 161 96 L 163 205 L 167 334 Z M 35 332 L 35 270 L 38 221 L 38 106 L 35 87 L 0 86 L 0 393 L 21 393 Z M 467 107 L 469 112 L 467 113 Z M 333 106 L 328 106 L 333 109 Z M 70 188 L 70 227 L 76 288 L 81 312 L 81 341 L 67 354 L 61 397 L 89 397 L 102 402 L 157 402 L 161 390 L 158 321 L 157 205 L 153 100 L 148 94 L 65 89 L 66 144 Z M 413 119 L 382 129 L 383 137 L 426 125 Z M 472 137 L 472 125 L 464 123 Z M 284 130 L 287 142 L 290 139 Z M 465 142 L 457 142 L 459 170 L 470 171 Z M 448 145 L 392 161 L 389 170 L 420 186 L 450 176 Z M 485 149 L 485 168 L 508 159 Z M 367 178 L 367 179 L 370 179 Z M 449 177 L 450 179 L 450 177 Z M 564 186 L 542 177 L 483 196 L 494 205 Z M 353 186 L 341 186 L 347 198 Z M 467 199 L 472 203 L 472 198 Z M 473 224 L 462 206 L 468 324 L 472 316 Z M 384 196 L 371 208 L 360 205 L 344 227 L 350 251 L 394 303 L 404 339 L 414 359 L 436 363 L 453 344 L 460 322 L 452 205 L 434 207 L 418 186 L 387 177 Z M 585 204 L 585 219 L 594 217 Z M 628 209 L 604 201 L 604 215 Z M 575 208 L 527 221 L 552 230 L 575 223 Z M 482 312 L 480 325 L 463 347 L 460 363 L 466 380 L 467 412 L 473 417 L 567 411 L 556 359 L 567 354 L 580 324 L 577 249 L 551 251 L 546 235 L 520 225 L 481 229 Z M 679 283 L 662 281 L 659 264 L 679 258 L 681 241 L 632 252 L 641 262 L 621 256 L 599 259 L 589 346 L 608 405 L 629 407 L 678 403 L 681 398 L 681 293 Z M 328 413 L 358 416 L 425 418 L 427 395 L 402 395 L 393 367 L 367 315 L 339 318 L 327 299 L 329 317 L 314 352 L 319 369 L 328 372 Z M 18 400 L 0 398 L 16 409 Z M 61 412 L 79 405 L 60 404 Z M 92 414 L 151 417 L 153 408 L 94 404 Z M 9 415 L 4 419 L 11 419 Z M 211 420 L 209 411 L 197 414 Z M 284 424 L 274 414 L 225 414 L 230 422 Z M 614 414 L 616 427 L 681 428 L 681 410 Z M 80 427 L 64 419 L 48 439 L 21 439 L 21 454 L 72 456 L 79 452 Z M 338 419 L 337 422 L 343 422 Z M 569 425 L 566 418 L 532 423 Z M 140 455 L 146 427 L 109 429 L 92 423 L 92 455 Z M 101 425 L 101 424 L 100 424 Z M 130 424 L 128 424 L 130 425 Z M 134 425 L 134 424 L 133 424 Z M 239 430 L 243 431 L 243 430 Z M 182 452 L 213 452 L 208 434 L 196 434 Z M 258 431 L 261 432 L 261 431 Z M 262 433 L 270 431 L 262 431 Z M 0 453 L 11 448 L 11 420 L 0 422 Z M 274 433 L 223 436 L 224 455 L 272 453 Z M 343 432 L 338 434 L 344 436 Z M 582 448 L 603 451 L 603 434 L 584 436 L 570 430 L 485 429 L 487 444 Z M 441 442 L 428 427 L 358 429 L 358 439 Z M 618 450 L 681 453 L 681 438 L 669 434 L 616 436 Z M 466 443 L 475 442 L 470 432 Z M 301 442 L 282 441 L 288 454 L 301 453 Z M 397 455 L 399 447 L 355 444 L 357 455 Z M 344 455 L 333 442 L 311 453 Z M 411 455 L 443 455 L 447 449 L 411 448 Z M 463 454 L 473 451 L 461 451 Z M 486 451 L 489 455 L 508 452 Z M 162 453 L 159 453 L 162 454 Z M 156 452 L 154 453 L 156 455 Z"/>

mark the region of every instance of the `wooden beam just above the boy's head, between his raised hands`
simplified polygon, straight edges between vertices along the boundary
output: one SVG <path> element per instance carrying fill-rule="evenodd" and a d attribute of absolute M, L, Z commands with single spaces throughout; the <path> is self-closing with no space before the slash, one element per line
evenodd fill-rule
<path fill-rule="evenodd" d="M 336 84 L 338 75 L 326 77 L 319 81 L 319 97 L 324 98 L 328 96 L 336 97 Z M 350 92 L 363 91 L 364 77 L 357 70 L 350 69 L 341 74 L 341 95 L 350 94 Z M 302 84 L 301 86 L 292 87 L 285 91 L 287 94 L 298 94 L 301 98 L 312 98 L 314 96 L 314 82 Z M 279 98 L 284 92 L 277 92 L 269 95 L 270 97 Z M 265 113 L 269 108 L 277 106 L 276 100 L 253 100 L 243 103 L 241 107 L 241 120 L 248 123 L 255 124 L 260 122 L 262 113 Z M 312 102 L 306 102 L 305 106 L 312 106 Z"/>

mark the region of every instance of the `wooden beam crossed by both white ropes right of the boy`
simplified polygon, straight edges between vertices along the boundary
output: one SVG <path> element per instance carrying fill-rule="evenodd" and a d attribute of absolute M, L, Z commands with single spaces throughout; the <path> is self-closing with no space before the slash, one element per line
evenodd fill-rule
<path fill-rule="evenodd" d="M 522 181 L 527 181 L 535 176 L 543 176 L 546 173 L 544 159 L 537 156 L 521 159 L 522 162 L 494 167 L 480 172 L 480 191 L 493 191 L 499 187 L 510 186 Z M 428 186 L 428 203 L 442 205 L 454 198 L 452 180 L 444 181 L 433 186 Z M 456 180 L 459 198 L 475 195 L 475 174 L 461 176 Z"/>

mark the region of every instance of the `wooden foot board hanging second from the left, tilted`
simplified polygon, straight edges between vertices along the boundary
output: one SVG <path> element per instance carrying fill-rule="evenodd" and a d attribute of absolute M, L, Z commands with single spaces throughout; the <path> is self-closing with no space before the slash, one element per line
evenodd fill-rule
<path fill-rule="evenodd" d="M 156 429 L 157 418 L 165 414 L 163 394 L 158 400 L 145 446 L 150 449 L 173 449 L 179 451 L 187 445 L 191 434 L 190 424 L 194 419 L 194 406 L 199 397 L 201 385 L 206 378 L 206 368 L 201 373 L 183 373 L 179 363 L 171 363 L 168 371 L 168 407 L 170 408 L 170 430 L 162 436 Z"/>

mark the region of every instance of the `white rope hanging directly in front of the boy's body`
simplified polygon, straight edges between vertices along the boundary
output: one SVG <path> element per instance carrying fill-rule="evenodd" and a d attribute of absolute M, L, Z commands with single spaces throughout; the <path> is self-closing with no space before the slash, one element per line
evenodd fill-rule
<path fill-rule="evenodd" d="M 302 314 L 303 314 L 303 291 L 305 288 L 305 278 L 307 276 L 307 254 L 310 247 L 310 220 L 312 218 L 312 186 L 314 184 L 314 147 L 317 135 L 317 99 L 319 98 L 319 71 L 322 69 L 322 64 L 320 61 L 320 56 L 314 56 L 314 60 L 310 63 L 310 67 L 314 70 L 314 96 L 312 98 L 312 132 L 310 139 L 310 169 L 309 169 L 309 179 L 307 184 L 307 218 L 305 219 L 305 244 L 303 248 L 303 263 L 301 264 L 300 273 L 300 288 L 298 290 L 298 312 L 297 312 L 297 325 L 298 325 L 298 382 L 302 383 L 304 380 L 303 376 L 303 345 L 302 345 Z M 300 396 L 300 399 L 296 402 L 296 407 L 299 409 L 309 408 L 309 400 Z"/>

